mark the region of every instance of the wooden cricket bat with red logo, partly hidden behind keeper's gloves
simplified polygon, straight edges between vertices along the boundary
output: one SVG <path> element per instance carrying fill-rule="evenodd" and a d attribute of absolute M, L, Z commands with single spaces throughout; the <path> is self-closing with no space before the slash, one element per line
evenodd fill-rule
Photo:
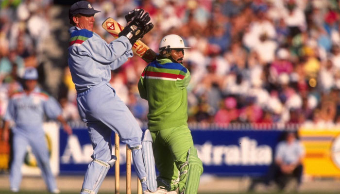
<path fill-rule="evenodd" d="M 102 23 L 102 28 L 115 38 L 118 38 L 119 32 L 124 29 L 124 27 L 111 17 L 105 19 Z M 147 63 L 152 62 L 156 58 L 156 53 L 140 40 L 132 46 L 132 51 Z"/>

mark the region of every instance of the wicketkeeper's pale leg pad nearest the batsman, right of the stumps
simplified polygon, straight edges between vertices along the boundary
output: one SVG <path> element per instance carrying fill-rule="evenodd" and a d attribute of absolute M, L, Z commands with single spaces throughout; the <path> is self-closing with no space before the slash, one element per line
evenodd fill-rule
<path fill-rule="evenodd" d="M 152 192 L 157 191 L 156 169 L 153 157 L 153 139 L 150 130 L 146 129 L 142 141 L 142 153 L 147 174 L 147 186 Z"/>

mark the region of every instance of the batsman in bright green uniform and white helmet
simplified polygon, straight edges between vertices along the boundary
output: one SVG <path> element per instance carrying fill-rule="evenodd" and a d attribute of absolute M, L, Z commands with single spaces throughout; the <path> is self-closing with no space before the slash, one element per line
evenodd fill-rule
<path fill-rule="evenodd" d="M 157 59 L 147 65 L 138 82 L 139 94 L 148 100 L 148 128 L 159 171 L 158 186 L 180 194 L 197 194 L 202 161 L 187 126 L 187 85 L 190 72 L 182 65 L 184 46 L 175 34 L 165 36 Z"/>

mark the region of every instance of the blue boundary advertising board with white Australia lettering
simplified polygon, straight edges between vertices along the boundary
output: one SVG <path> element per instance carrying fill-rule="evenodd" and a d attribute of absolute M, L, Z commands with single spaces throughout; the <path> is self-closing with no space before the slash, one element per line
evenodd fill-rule
<path fill-rule="evenodd" d="M 219 176 L 266 174 L 282 133 L 280 130 L 191 130 L 204 173 Z M 113 135 L 111 144 L 114 145 Z M 121 144 L 120 170 L 125 174 L 126 153 L 123 147 L 125 145 Z M 87 129 L 73 129 L 71 136 L 61 133 L 60 173 L 84 174 L 92 160 L 92 151 Z M 114 168 L 111 168 L 108 174 L 113 173 Z"/>

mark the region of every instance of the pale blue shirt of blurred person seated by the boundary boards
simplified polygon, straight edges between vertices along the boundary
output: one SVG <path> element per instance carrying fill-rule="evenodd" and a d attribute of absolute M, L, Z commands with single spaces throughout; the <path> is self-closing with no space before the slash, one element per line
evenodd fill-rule
<path fill-rule="evenodd" d="M 276 146 L 275 160 L 281 160 L 286 164 L 298 162 L 305 155 L 305 148 L 300 141 L 295 140 L 288 144 L 286 141 L 280 142 Z"/>

